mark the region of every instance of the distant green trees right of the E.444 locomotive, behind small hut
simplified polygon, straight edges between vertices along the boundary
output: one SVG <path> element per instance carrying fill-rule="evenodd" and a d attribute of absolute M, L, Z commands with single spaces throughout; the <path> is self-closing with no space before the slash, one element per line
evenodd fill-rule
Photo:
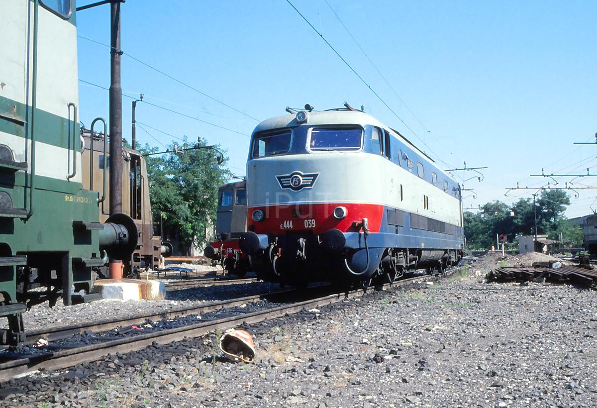
<path fill-rule="evenodd" d="M 543 190 L 536 199 L 537 234 L 547 234 L 559 240 L 563 234 L 564 244 L 581 247 L 582 228 L 571 223 L 564 211 L 570 205 L 570 197 L 562 190 Z M 472 249 L 488 249 L 496 244 L 496 234 L 504 234 L 512 242 L 519 235 L 535 233 L 535 209 L 532 198 L 521 198 L 512 205 L 492 201 L 481 206 L 481 211 L 464 212 L 464 235 Z"/>

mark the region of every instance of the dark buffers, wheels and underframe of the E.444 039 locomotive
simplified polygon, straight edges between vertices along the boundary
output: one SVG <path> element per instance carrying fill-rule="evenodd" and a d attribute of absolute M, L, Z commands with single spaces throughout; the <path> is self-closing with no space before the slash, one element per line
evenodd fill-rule
<path fill-rule="evenodd" d="M 391 283 L 409 271 L 441 273 L 460 262 L 459 250 L 380 248 L 327 250 L 321 236 L 288 234 L 270 239 L 266 249 L 250 254 L 258 277 L 293 286 L 313 281 L 369 286 Z"/>

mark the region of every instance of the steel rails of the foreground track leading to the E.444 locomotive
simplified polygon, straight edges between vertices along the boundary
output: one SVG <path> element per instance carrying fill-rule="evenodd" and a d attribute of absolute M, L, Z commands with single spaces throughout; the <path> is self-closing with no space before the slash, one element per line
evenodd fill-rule
<path fill-rule="evenodd" d="M 429 275 L 419 275 L 416 277 L 407 278 L 400 281 L 395 281 L 391 284 L 383 284 L 381 286 L 376 287 L 377 290 L 379 289 L 388 289 L 390 287 L 395 286 L 404 286 L 405 284 L 411 283 L 413 281 L 422 280 L 424 278 L 428 278 Z M 292 291 L 281 291 L 281 292 L 292 292 Z M 184 338 L 193 338 L 202 335 L 206 335 L 207 333 L 213 332 L 217 329 L 228 329 L 230 327 L 238 326 L 242 323 L 254 324 L 259 323 L 260 321 L 270 320 L 273 318 L 282 317 L 286 314 L 295 314 L 300 312 L 303 309 L 315 308 L 319 306 L 329 305 L 331 303 L 340 302 L 341 300 L 350 299 L 352 297 L 362 296 L 366 293 L 367 290 L 349 290 L 346 292 L 340 293 L 332 293 L 324 296 L 319 296 L 313 299 L 302 300 L 299 302 L 289 303 L 288 305 L 282 306 L 275 306 L 272 308 L 265 308 L 259 311 L 254 312 L 246 312 L 246 313 L 239 313 L 235 314 L 230 317 L 224 317 L 217 320 L 205 321 L 198 324 L 191 324 L 189 326 L 183 327 L 173 327 L 171 329 L 165 329 L 161 331 L 149 332 L 149 333 L 142 333 L 137 334 L 136 336 L 126 337 L 126 338 L 119 338 L 119 339 L 108 339 L 107 341 L 94 343 L 90 345 L 83 345 L 83 346 L 76 346 L 74 348 L 63 349 L 54 352 L 48 352 L 43 355 L 14 355 L 13 360 L 5 361 L 4 363 L 0 363 L 0 381 L 7 381 L 8 379 L 14 378 L 16 376 L 26 375 L 27 373 L 33 373 L 38 370 L 58 370 L 64 369 L 67 367 L 75 366 L 76 364 L 81 363 L 88 363 L 90 361 L 99 360 L 100 358 L 105 357 L 109 354 L 115 354 L 116 352 L 120 353 L 127 353 L 131 351 L 137 351 L 147 346 L 151 345 L 152 343 L 160 343 L 166 344 L 174 341 L 180 341 Z M 257 296 L 264 296 L 264 295 L 257 295 Z M 255 299 L 254 296 L 248 296 L 240 299 L 233 299 L 230 302 L 234 302 L 236 305 L 242 302 L 248 302 L 250 299 Z M 219 303 L 220 307 L 224 307 L 225 302 L 216 302 Z M 231 303 L 229 303 L 231 305 Z M 211 306 L 209 305 L 201 305 L 198 308 L 188 308 L 189 314 L 196 313 L 200 308 L 206 307 L 213 307 L 214 304 Z M 177 312 L 181 312 L 182 309 L 178 309 Z M 167 317 L 168 313 L 173 313 L 174 311 L 165 312 L 165 314 L 158 314 L 159 317 Z M 137 319 L 140 316 L 136 317 Z M 120 320 L 118 323 L 119 325 L 128 324 L 133 321 L 131 318 L 127 318 L 127 320 L 123 319 Z M 97 324 L 98 322 L 96 322 Z M 88 330 L 91 330 L 92 327 L 108 327 L 109 324 L 114 324 L 114 322 L 108 323 L 103 322 L 102 324 L 106 326 L 87 326 Z M 82 332 L 85 329 L 82 327 L 84 324 L 76 325 L 76 327 L 70 327 L 71 330 L 78 330 L 78 332 Z M 40 330 L 37 332 L 38 335 L 45 334 L 47 336 L 51 336 L 51 330 Z M 73 332 L 72 332 L 73 333 Z M 72 334 L 71 333 L 71 334 Z M 76 332 L 74 332 L 76 333 Z M 66 335 L 66 331 L 62 332 L 54 332 L 55 336 Z"/>

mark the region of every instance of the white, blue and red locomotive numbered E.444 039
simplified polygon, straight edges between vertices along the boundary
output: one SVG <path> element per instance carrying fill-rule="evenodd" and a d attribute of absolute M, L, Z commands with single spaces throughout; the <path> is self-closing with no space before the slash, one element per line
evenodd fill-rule
<path fill-rule="evenodd" d="M 345 106 L 255 128 L 240 243 L 254 271 L 290 284 L 370 283 L 459 262 L 458 183 L 400 133 Z"/>

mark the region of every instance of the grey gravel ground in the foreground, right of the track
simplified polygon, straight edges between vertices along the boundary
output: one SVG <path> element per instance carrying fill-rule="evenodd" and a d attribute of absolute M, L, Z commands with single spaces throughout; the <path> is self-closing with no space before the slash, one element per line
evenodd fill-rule
<path fill-rule="evenodd" d="M 466 273 L 0 385 L 7 406 L 597 406 L 597 300 Z M 433 283 L 433 284 L 430 284 Z"/>

